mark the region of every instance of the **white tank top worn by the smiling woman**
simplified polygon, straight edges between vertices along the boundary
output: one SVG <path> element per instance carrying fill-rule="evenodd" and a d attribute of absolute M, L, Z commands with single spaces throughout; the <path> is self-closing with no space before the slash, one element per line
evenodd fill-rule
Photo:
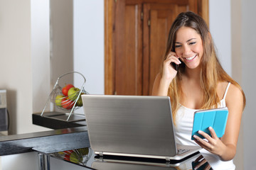
<path fill-rule="evenodd" d="M 230 82 L 228 83 L 227 88 L 225 89 L 225 94 L 223 99 L 220 101 L 218 108 L 223 108 L 226 106 L 225 97 L 228 92 L 228 88 L 230 86 Z M 186 108 L 185 106 L 180 106 L 176 113 L 176 126 L 175 135 L 176 135 L 176 143 L 181 145 L 197 145 L 196 142 L 191 140 L 191 133 L 193 128 L 193 115 L 194 112 L 198 111 L 196 109 Z M 235 169 L 235 164 L 233 164 L 233 160 L 228 162 L 223 162 L 220 158 L 208 152 L 206 149 L 201 149 L 201 154 L 206 158 L 208 163 L 213 169 Z"/>

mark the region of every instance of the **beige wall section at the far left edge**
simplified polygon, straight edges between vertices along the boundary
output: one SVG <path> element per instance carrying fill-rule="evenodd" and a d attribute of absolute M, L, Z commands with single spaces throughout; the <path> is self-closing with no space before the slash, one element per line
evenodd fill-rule
<path fill-rule="evenodd" d="M 26 118 L 32 113 L 30 15 L 29 0 L 0 1 L 0 89 L 7 90 L 10 132 L 14 133 L 31 123 Z"/>

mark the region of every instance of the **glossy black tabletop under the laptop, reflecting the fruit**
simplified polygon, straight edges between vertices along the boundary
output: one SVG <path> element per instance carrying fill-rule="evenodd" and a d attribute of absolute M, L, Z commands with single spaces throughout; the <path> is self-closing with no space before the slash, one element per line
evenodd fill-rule
<path fill-rule="evenodd" d="M 141 157 L 117 157 L 117 156 L 99 156 L 95 155 L 90 147 L 82 149 L 73 149 L 64 152 L 55 152 L 48 154 L 50 157 L 62 159 L 65 162 L 77 164 L 78 166 L 86 167 L 87 169 L 98 170 L 115 170 L 115 169 L 194 169 L 197 164 L 200 164 L 202 155 L 196 154 L 182 159 L 181 161 L 171 160 L 167 162 L 164 159 L 149 159 Z M 207 164 L 207 162 L 206 162 Z M 204 166 L 201 166 L 203 169 Z"/>

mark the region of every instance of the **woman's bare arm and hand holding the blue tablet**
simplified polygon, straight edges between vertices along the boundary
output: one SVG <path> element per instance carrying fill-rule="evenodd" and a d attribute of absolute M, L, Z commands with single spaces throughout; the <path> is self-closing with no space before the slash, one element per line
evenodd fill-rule
<path fill-rule="evenodd" d="M 223 161 L 228 161 L 233 159 L 236 153 L 243 110 L 242 92 L 238 87 L 231 84 L 225 101 L 229 111 L 225 135 L 219 139 L 215 135 L 213 128 L 209 128 L 212 137 L 201 132 L 201 135 L 206 137 L 208 142 L 198 137 L 196 137 L 197 140 L 195 140 L 195 142 L 201 147 L 207 149 L 209 152 L 217 154 Z"/>

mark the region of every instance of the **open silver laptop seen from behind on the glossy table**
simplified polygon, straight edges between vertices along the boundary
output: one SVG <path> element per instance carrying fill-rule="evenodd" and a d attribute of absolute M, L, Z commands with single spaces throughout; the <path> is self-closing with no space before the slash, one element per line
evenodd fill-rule
<path fill-rule="evenodd" d="M 201 147 L 178 146 L 167 96 L 82 95 L 95 154 L 180 160 Z"/>

